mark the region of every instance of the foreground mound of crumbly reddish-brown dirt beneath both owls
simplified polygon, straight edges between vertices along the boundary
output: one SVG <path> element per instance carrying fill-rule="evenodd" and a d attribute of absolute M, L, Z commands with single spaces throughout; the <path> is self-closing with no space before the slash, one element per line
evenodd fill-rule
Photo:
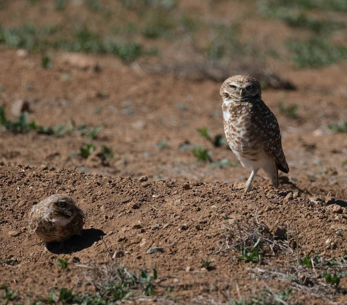
<path fill-rule="evenodd" d="M 272 187 L 256 187 L 245 195 L 225 182 L 140 181 L 48 167 L 2 166 L 0 171 L 2 283 L 20 291 L 21 302 L 27 294 L 48 296 L 52 287 L 91 290 L 81 265 L 104 264 L 108 251 L 132 270 L 156 267 L 158 295 L 171 287 L 176 301 L 186 303 L 197 296 L 238 299 L 235 285 L 243 294 L 270 282 L 292 288 L 275 274 L 285 275 L 287 263 L 293 272 L 297 254 L 319 251 L 330 259 L 347 249 L 347 203 L 342 200 L 325 203 Z M 86 214 L 86 224 L 82 237 L 43 253 L 42 241 L 27 230 L 28 213 L 55 193 L 73 197 Z M 236 245 L 249 246 L 259 237 L 261 262 L 239 262 Z M 159 251 L 148 254 L 155 247 Z M 62 271 L 56 261 L 64 254 L 71 262 Z M 297 304 L 312 297 L 305 281 L 318 281 L 312 275 L 304 280 L 303 271 L 295 274 Z M 326 287 L 316 286 L 320 288 L 312 294 L 323 295 Z"/>

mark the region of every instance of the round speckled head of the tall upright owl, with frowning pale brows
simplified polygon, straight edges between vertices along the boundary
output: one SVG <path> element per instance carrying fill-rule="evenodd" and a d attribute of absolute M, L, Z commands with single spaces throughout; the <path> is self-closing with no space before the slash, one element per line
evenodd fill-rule
<path fill-rule="evenodd" d="M 240 98 L 261 98 L 259 81 L 248 75 L 234 75 L 225 80 L 219 91 L 225 100 Z"/>

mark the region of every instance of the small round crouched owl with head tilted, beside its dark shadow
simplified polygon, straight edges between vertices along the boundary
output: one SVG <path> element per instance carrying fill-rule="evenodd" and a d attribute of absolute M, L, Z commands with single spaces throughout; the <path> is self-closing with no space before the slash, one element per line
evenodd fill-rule
<path fill-rule="evenodd" d="M 46 242 L 63 242 L 81 235 L 84 213 L 70 196 L 55 194 L 34 205 L 29 214 L 29 231 Z M 47 248 L 47 247 L 46 247 Z"/>

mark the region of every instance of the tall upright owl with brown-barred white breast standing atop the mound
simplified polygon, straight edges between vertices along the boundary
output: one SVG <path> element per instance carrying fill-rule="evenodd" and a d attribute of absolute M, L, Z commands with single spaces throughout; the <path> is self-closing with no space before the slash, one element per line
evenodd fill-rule
<path fill-rule="evenodd" d="M 260 168 L 278 188 L 278 170 L 288 173 L 289 167 L 277 119 L 261 100 L 260 83 L 247 75 L 235 75 L 223 82 L 219 93 L 223 98 L 224 131 L 229 146 L 243 167 L 252 168 L 242 188 L 245 192 L 251 189 Z"/>

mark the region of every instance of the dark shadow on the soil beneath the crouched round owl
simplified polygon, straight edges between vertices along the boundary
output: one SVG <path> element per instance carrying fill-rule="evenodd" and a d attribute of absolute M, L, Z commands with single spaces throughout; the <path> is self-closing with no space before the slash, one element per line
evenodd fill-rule
<path fill-rule="evenodd" d="M 106 234 L 99 229 L 83 229 L 81 235 L 73 236 L 65 242 L 49 242 L 45 246 L 54 254 L 71 254 L 89 248 L 104 235 Z"/>

